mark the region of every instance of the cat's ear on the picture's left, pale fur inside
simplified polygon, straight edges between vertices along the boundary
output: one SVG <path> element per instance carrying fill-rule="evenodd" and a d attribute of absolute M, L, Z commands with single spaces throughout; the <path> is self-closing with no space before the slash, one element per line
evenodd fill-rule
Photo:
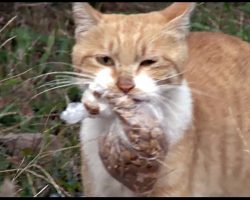
<path fill-rule="evenodd" d="M 75 21 L 75 36 L 88 31 L 98 24 L 102 14 L 88 3 L 73 3 L 73 17 Z"/>

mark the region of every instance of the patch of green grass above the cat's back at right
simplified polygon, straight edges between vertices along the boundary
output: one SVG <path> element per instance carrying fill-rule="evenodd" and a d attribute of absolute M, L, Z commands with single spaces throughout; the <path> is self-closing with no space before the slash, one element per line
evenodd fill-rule
<path fill-rule="evenodd" d="M 193 16 L 192 30 L 224 32 L 250 41 L 250 3 L 204 3 Z"/>

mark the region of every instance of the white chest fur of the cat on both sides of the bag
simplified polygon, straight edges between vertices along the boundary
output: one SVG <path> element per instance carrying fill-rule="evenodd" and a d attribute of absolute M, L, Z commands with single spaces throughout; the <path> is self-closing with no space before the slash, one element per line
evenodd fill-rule
<path fill-rule="evenodd" d="M 192 98 L 189 87 L 184 83 L 179 88 L 166 92 L 164 99 L 166 101 L 161 101 L 159 109 L 163 110 L 166 137 L 171 148 L 171 144 L 181 138 L 192 120 Z M 131 190 L 108 174 L 99 157 L 98 136 L 105 133 L 112 120 L 112 117 L 87 118 L 82 122 L 80 139 L 84 144 L 84 157 L 90 173 L 91 189 L 94 196 L 135 196 Z"/>

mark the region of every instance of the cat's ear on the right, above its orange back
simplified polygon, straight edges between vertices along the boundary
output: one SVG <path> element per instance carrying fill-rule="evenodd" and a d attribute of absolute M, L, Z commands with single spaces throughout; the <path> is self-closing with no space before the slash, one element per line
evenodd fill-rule
<path fill-rule="evenodd" d="M 196 3 L 173 3 L 161 11 L 166 17 L 166 31 L 175 31 L 180 36 L 185 36 L 189 32 L 190 18 Z"/>

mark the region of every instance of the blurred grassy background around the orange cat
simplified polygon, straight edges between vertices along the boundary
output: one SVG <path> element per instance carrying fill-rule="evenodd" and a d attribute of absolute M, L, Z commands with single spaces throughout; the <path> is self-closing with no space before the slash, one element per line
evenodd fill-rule
<path fill-rule="evenodd" d="M 160 10 L 168 2 L 93 2 L 105 13 Z M 193 31 L 250 41 L 250 3 L 198 3 Z M 0 3 L 0 196 L 81 196 L 79 124 L 59 115 L 79 101 L 74 85 L 49 72 L 73 71 L 71 3 Z M 65 81 L 66 83 L 67 81 Z M 84 181 L 84 180 L 83 180 Z"/>

